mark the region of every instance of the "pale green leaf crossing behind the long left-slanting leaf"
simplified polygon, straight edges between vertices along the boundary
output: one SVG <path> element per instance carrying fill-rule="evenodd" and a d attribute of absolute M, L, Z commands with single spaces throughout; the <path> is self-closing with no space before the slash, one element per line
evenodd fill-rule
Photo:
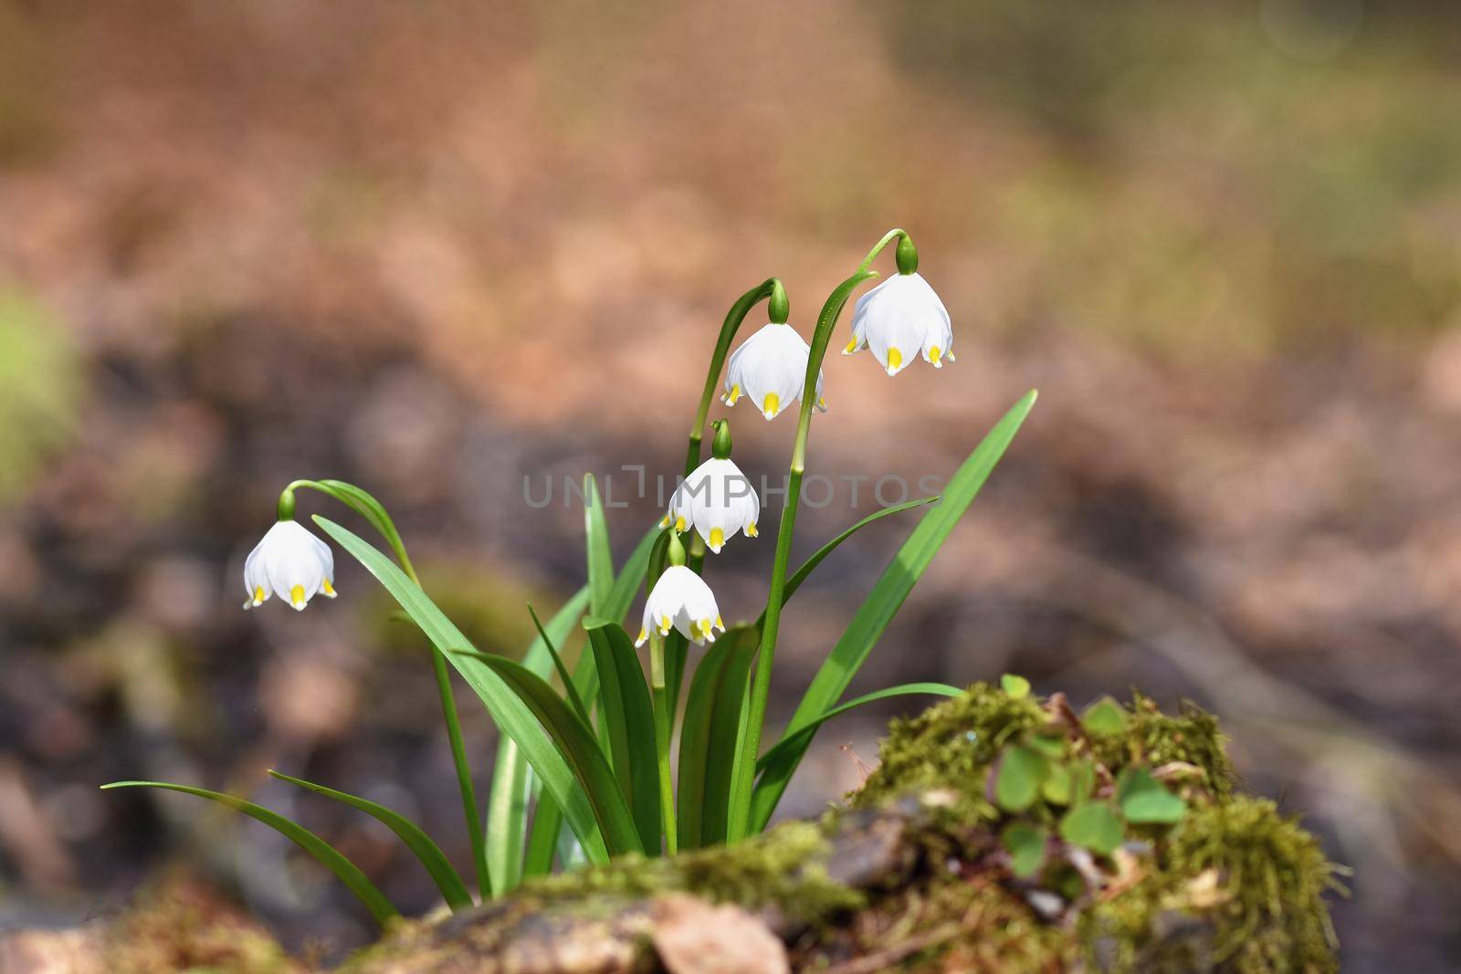
<path fill-rule="evenodd" d="M 577 628 L 579 618 L 589 607 L 589 587 L 580 588 L 551 619 L 543 631 L 561 645 Z M 527 647 L 523 666 L 546 678 L 552 669 L 542 635 Z M 492 765 L 492 791 L 487 802 L 487 862 L 492 873 L 492 892 L 503 895 L 514 889 L 523 876 L 523 840 L 527 824 L 527 759 L 507 735 L 497 742 L 497 762 Z M 555 806 L 557 808 L 557 806 Z M 557 822 L 562 824 L 562 813 Z M 557 827 L 555 827 L 557 828 Z M 557 838 L 557 835 L 555 835 Z"/>

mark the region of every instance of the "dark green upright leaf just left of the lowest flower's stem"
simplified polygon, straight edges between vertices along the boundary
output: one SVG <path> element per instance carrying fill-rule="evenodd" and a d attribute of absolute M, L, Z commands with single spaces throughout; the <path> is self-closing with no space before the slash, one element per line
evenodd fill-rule
<path fill-rule="evenodd" d="M 644 850 L 655 854 L 660 847 L 663 822 L 655 707 L 644 669 L 634 643 L 618 622 L 584 619 L 583 625 L 599 670 L 599 713 L 608 730 L 614 775 L 634 812 Z"/>

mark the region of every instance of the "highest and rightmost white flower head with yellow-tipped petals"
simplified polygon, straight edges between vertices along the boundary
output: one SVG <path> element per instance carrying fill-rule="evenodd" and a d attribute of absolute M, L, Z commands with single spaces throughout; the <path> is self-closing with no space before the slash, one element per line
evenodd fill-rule
<path fill-rule="evenodd" d="M 852 340 L 843 355 L 865 348 L 897 375 L 922 355 L 934 368 L 954 361 L 954 329 L 948 310 L 918 273 L 918 250 L 907 237 L 899 241 L 899 273 L 858 298 L 852 314 Z"/>

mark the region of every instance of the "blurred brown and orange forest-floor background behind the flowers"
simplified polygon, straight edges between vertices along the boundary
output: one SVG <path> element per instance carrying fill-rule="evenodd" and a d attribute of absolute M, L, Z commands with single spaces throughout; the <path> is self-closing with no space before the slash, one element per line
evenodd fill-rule
<path fill-rule="evenodd" d="M 1419 1 L 0 0 L 0 927 L 187 863 L 291 945 L 370 936 L 267 829 L 95 789 L 130 777 L 297 815 L 427 907 L 374 822 L 263 777 L 468 862 L 371 580 L 340 555 L 339 600 L 238 610 L 279 488 L 375 492 L 514 651 L 583 577 L 580 514 L 524 476 L 672 476 L 730 301 L 779 275 L 808 334 L 901 225 L 958 362 L 833 355 L 812 469 L 947 475 L 1043 394 L 855 689 L 1214 707 L 1354 867 L 1346 970 L 1457 970 L 1458 66 L 1461 18 Z M 783 472 L 793 421 L 730 415 Z M 652 507 L 612 513 L 619 555 Z M 776 510 L 713 562 L 728 621 Z M 806 511 L 801 549 L 871 510 Z M 912 523 L 796 596 L 776 720 Z M 856 784 L 890 713 L 825 730 L 785 812 Z"/>

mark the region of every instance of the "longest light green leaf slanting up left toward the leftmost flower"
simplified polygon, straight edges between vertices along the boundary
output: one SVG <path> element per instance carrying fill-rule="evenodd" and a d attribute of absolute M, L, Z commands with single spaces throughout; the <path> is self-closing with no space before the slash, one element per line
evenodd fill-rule
<path fill-rule="evenodd" d="M 587 796 L 579 787 L 573 770 L 565 756 L 554 745 L 548 732 L 538 723 L 538 717 L 527 707 L 519 694 L 508 688 L 501 673 L 487 666 L 470 653 L 460 653 L 472 643 L 462 631 L 446 618 L 446 615 L 427 597 L 421 586 L 411 581 L 389 558 L 375 549 L 370 542 L 361 539 L 345 527 L 340 527 L 327 517 L 314 517 L 316 524 L 333 537 L 340 548 L 354 555 L 375 578 L 386 587 L 400 607 L 427 634 L 432 645 L 446 654 L 451 664 L 462 673 L 468 685 L 476 691 L 482 705 L 492 716 L 498 729 L 517 742 L 527 764 L 542 780 L 543 787 L 564 810 L 564 818 L 574 835 L 583 843 L 584 854 L 590 862 L 608 862 L 608 845 L 605 835 L 599 834 L 593 809 Z M 541 682 L 541 680 L 539 680 Z M 557 695 L 554 695 L 557 699 Z M 560 702 L 562 702 L 560 699 Z M 567 710 L 567 705 L 564 705 Z"/>

